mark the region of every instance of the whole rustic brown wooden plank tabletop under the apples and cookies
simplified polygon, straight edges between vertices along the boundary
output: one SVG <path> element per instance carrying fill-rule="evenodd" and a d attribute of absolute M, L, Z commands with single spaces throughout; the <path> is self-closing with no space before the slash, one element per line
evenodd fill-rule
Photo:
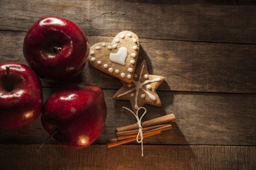
<path fill-rule="evenodd" d="M 43 16 L 76 23 L 90 44 L 111 41 L 122 30 L 141 42 L 138 63 L 165 77 L 157 93 L 163 106 L 146 106 L 144 120 L 174 113 L 172 130 L 107 148 L 115 128 L 135 123 L 128 101 L 112 99 L 118 79 L 86 64 L 72 81 L 41 79 L 44 101 L 73 82 L 100 86 L 108 115 L 90 147 L 65 149 L 40 120 L 0 130 L 0 169 L 256 169 L 256 6 L 254 1 L 0 1 L 0 62 L 21 62 L 26 31 Z"/>

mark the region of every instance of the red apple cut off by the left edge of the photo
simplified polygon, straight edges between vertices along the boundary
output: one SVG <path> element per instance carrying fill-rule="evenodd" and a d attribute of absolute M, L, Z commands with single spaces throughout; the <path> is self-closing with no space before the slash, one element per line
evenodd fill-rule
<path fill-rule="evenodd" d="M 0 64 L 0 128 L 32 123 L 41 113 L 41 82 L 33 70 L 14 62 Z"/>

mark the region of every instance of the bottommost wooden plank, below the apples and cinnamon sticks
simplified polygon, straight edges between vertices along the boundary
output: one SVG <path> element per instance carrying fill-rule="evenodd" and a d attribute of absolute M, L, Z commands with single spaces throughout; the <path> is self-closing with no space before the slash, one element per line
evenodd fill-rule
<path fill-rule="evenodd" d="M 65 149 L 45 145 L 0 145 L 1 169 L 255 169 L 256 147 L 139 145 Z M 157 151 L 157 152 L 156 152 Z"/>

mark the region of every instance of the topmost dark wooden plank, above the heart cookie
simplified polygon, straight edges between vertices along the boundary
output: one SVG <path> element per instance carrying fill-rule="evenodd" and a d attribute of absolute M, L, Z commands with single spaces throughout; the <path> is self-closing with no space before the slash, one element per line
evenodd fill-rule
<path fill-rule="evenodd" d="M 132 30 L 140 38 L 256 42 L 256 6 L 208 4 L 104 0 L 23 0 L 17 4 L 2 0 L 0 28 L 27 31 L 43 16 L 60 16 L 77 23 L 87 35 L 113 37 L 122 30 Z"/>

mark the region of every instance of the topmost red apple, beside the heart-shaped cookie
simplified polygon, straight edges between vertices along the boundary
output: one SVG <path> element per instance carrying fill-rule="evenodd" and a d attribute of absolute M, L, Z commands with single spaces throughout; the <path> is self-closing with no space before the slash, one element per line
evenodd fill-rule
<path fill-rule="evenodd" d="M 72 21 L 47 16 L 36 21 L 23 42 L 23 55 L 39 77 L 63 80 L 82 72 L 90 44 Z"/>

